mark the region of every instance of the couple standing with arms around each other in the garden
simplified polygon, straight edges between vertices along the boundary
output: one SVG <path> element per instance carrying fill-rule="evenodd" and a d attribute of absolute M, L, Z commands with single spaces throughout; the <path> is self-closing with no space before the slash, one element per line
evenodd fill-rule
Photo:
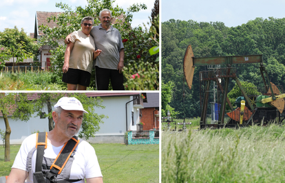
<path fill-rule="evenodd" d="M 111 80 L 113 90 L 123 86 L 124 46 L 118 29 L 112 27 L 112 12 L 104 9 L 99 14 L 101 24 L 86 16 L 81 21 L 81 31 L 65 38 L 67 44 L 63 64 L 63 82 L 67 90 L 86 90 L 93 66 L 96 71 L 97 90 L 108 90 Z M 95 60 L 96 59 L 96 60 Z M 93 63 L 95 62 L 95 63 Z"/>

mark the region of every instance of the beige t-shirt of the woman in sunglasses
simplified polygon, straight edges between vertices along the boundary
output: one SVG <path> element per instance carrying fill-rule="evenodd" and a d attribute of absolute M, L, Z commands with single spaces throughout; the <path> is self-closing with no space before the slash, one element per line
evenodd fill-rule
<path fill-rule="evenodd" d="M 70 53 L 70 68 L 80 69 L 91 73 L 93 67 L 93 51 L 95 42 L 92 36 L 82 31 L 72 32 L 71 41 L 74 43 Z"/>

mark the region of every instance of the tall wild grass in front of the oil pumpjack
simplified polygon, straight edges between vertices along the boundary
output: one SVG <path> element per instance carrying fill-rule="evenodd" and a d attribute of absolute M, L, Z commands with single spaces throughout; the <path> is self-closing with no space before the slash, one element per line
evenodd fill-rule
<path fill-rule="evenodd" d="M 162 182 L 285 182 L 285 127 L 162 132 Z"/>

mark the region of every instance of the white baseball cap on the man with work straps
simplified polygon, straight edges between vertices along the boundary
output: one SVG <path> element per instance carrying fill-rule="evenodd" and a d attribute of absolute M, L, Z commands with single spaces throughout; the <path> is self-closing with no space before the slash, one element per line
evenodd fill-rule
<path fill-rule="evenodd" d="M 75 97 L 62 97 L 57 101 L 54 108 L 61 107 L 64 110 L 81 110 L 83 113 L 88 113 L 83 109 L 82 103 L 78 101 Z"/>

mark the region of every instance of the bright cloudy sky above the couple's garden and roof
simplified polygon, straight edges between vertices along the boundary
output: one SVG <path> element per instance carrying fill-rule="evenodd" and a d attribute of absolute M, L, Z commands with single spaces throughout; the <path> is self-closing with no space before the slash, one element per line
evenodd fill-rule
<path fill-rule="evenodd" d="M 149 22 L 151 9 L 154 8 L 155 0 L 116 0 L 114 5 L 117 5 L 124 10 L 129 8 L 129 5 L 134 3 L 145 3 L 147 10 L 140 10 L 134 13 L 132 27 L 142 25 Z M 85 7 L 86 0 L 1 0 L 0 3 L 0 32 L 5 28 L 14 28 L 16 25 L 21 30 L 23 27 L 26 33 L 34 32 L 34 21 L 36 11 L 42 12 L 63 12 L 60 8 L 56 8 L 56 3 L 67 3 L 74 10 L 77 6 Z M 143 26 L 143 25 L 142 25 Z"/>

